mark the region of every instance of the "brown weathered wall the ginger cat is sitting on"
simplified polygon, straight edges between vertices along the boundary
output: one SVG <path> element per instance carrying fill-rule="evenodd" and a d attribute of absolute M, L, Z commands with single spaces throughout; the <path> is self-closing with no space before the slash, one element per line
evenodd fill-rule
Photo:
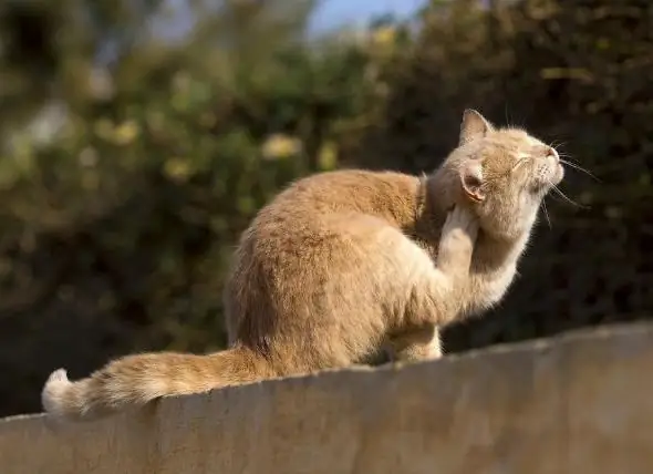
<path fill-rule="evenodd" d="M 2 474 L 651 474 L 653 326 L 0 422 Z"/>

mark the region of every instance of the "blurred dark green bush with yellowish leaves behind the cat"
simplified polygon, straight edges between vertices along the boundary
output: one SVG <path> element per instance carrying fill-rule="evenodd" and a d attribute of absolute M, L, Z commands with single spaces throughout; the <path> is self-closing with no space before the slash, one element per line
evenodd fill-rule
<path fill-rule="evenodd" d="M 39 410 L 58 367 L 221 347 L 226 265 L 263 203 L 339 166 L 428 171 L 465 107 L 599 182 L 568 171 L 578 205 L 548 199 L 509 298 L 447 349 L 649 316 L 647 2 L 433 0 L 417 29 L 319 40 L 309 0 L 184 4 L 166 38 L 166 2 L 0 0 L 0 414 Z"/>

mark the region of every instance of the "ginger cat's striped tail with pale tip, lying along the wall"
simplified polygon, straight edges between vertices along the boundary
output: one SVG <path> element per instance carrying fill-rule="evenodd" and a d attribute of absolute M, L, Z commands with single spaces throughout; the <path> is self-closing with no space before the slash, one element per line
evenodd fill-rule
<path fill-rule="evenodd" d="M 271 377 L 270 363 L 242 347 L 208 356 L 145 353 L 117 359 L 74 382 L 65 370 L 55 370 L 43 387 L 41 402 L 55 419 L 84 421 L 160 396 L 200 393 Z"/>

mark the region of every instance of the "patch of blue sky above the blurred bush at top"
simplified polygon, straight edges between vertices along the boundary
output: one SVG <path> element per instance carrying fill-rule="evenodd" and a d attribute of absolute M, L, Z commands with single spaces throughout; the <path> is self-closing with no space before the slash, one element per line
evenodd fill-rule
<path fill-rule="evenodd" d="M 426 0 L 322 0 L 311 24 L 312 31 L 324 31 L 346 23 L 364 24 L 371 18 L 393 13 L 405 18 Z"/>

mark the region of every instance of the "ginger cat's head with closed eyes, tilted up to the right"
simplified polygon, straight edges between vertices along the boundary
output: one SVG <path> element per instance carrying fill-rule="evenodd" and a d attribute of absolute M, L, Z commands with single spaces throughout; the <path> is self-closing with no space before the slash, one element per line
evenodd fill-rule
<path fill-rule="evenodd" d="M 445 163 L 463 199 L 496 236 L 528 231 L 545 195 L 564 176 L 558 152 L 519 128 L 497 128 L 465 111 L 458 147 Z"/>

